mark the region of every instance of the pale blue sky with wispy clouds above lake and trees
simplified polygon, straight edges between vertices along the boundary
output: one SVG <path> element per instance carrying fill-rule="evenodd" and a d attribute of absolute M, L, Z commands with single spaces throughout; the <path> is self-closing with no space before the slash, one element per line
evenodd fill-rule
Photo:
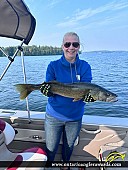
<path fill-rule="evenodd" d="M 36 19 L 29 45 L 61 47 L 76 32 L 82 51 L 128 51 L 128 0 L 24 0 Z M 20 42 L 0 37 L 0 46 Z"/>

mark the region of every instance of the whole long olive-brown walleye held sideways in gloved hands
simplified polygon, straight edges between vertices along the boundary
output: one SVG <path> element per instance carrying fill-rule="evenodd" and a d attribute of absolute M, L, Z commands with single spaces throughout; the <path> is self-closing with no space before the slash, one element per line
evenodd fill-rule
<path fill-rule="evenodd" d="M 40 90 L 43 84 L 50 85 L 50 92 L 64 97 L 73 98 L 73 101 L 83 99 L 86 95 L 91 95 L 93 99 L 105 102 L 117 101 L 117 95 L 111 91 L 93 84 L 85 82 L 60 83 L 57 81 L 44 82 L 42 84 L 16 84 L 16 89 L 20 92 L 20 99 L 25 99 L 32 91 Z"/>

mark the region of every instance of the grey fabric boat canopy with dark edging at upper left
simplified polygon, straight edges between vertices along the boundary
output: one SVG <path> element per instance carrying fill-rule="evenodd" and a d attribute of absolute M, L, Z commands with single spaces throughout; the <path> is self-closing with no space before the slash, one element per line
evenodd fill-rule
<path fill-rule="evenodd" d="M 0 0 L 0 36 L 24 40 L 28 45 L 36 21 L 23 0 Z"/>

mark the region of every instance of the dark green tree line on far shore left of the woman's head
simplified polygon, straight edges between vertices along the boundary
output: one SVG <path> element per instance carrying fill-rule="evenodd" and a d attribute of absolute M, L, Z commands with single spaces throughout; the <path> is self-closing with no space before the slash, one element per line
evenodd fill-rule
<path fill-rule="evenodd" d="M 15 53 L 17 46 L 15 47 L 2 47 L 2 49 L 8 54 L 9 56 L 13 56 Z M 62 48 L 60 47 L 52 47 L 52 46 L 23 46 L 24 56 L 44 56 L 44 55 L 61 55 Z M 17 55 L 20 55 L 18 53 Z M 5 56 L 2 51 L 0 50 L 0 56 Z"/>

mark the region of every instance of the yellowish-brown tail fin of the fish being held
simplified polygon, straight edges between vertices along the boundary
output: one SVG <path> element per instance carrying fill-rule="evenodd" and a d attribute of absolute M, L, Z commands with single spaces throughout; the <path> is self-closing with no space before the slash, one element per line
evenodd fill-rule
<path fill-rule="evenodd" d="M 32 91 L 30 85 L 28 84 L 16 84 L 16 90 L 20 93 L 20 99 L 24 100 Z"/>

